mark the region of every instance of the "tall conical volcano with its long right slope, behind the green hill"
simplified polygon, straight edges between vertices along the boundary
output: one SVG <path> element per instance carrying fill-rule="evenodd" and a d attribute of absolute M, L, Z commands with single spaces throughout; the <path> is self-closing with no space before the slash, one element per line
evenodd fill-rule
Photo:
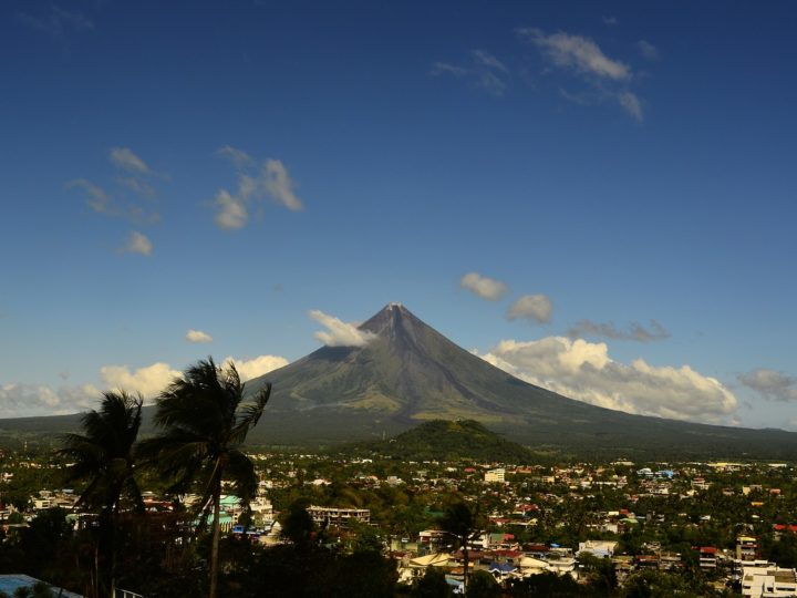
<path fill-rule="evenodd" d="M 618 455 L 785 458 L 797 434 L 631 415 L 535 386 L 457 347 L 400 303 L 365 321 L 360 347 L 322 347 L 267 381 L 272 399 L 251 440 L 307 444 L 391 435 L 424 421 L 477 420 L 526 445 Z"/>

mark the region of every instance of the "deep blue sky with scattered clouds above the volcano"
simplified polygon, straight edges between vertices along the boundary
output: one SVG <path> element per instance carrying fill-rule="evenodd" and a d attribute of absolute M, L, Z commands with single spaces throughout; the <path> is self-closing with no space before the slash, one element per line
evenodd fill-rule
<path fill-rule="evenodd" d="M 796 13 L 3 2 L 0 416 L 402 301 L 579 400 L 797 430 Z"/>

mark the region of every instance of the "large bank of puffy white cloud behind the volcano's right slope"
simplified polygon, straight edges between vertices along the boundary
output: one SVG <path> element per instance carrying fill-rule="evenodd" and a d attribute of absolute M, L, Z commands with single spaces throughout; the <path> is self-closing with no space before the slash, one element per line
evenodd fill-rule
<path fill-rule="evenodd" d="M 659 368 L 642 359 L 620 363 L 602 342 L 565 337 L 504 340 L 482 357 L 532 384 L 628 413 L 728 424 L 738 408 L 720 381 L 689 365 Z"/>

